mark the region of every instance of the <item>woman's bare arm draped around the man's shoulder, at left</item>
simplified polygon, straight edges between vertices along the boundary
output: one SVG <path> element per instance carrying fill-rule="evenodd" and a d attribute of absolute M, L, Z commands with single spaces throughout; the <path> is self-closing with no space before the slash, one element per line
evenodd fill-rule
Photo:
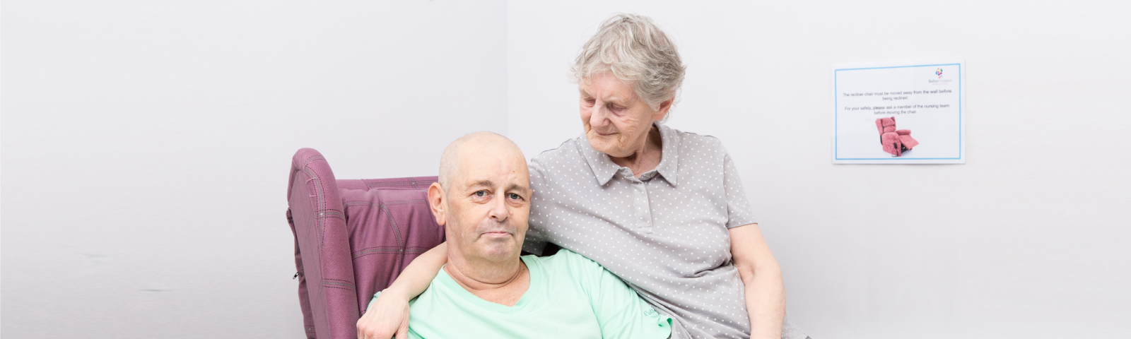
<path fill-rule="evenodd" d="M 357 339 L 408 338 L 408 301 L 416 297 L 448 262 L 448 242 L 440 243 L 408 263 L 357 320 Z"/>

